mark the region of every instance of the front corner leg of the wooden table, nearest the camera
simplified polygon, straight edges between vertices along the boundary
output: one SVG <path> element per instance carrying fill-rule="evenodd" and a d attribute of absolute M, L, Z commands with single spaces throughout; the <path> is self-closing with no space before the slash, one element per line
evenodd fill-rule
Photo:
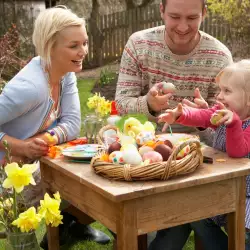
<path fill-rule="evenodd" d="M 138 250 L 137 216 L 133 201 L 120 204 L 116 222 L 117 249 Z"/>

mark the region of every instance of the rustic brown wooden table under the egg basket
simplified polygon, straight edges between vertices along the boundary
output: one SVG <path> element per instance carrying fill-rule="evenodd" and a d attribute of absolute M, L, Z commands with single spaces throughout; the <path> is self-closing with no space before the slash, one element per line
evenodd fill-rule
<path fill-rule="evenodd" d="M 228 213 L 229 249 L 245 249 L 245 176 L 250 161 L 232 159 L 206 147 L 214 164 L 168 181 L 117 182 L 94 173 L 88 164 L 41 160 L 47 191 L 117 233 L 119 250 L 138 249 L 138 235 Z M 217 162 L 216 159 L 225 159 Z M 58 230 L 49 228 L 49 249 L 57 250 Z"/>

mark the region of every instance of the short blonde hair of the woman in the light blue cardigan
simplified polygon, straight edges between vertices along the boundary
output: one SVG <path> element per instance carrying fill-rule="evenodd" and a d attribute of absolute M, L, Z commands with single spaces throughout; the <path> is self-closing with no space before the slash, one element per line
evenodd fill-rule
<path fill-rule="evenodd" d="M 58 32 L 69 26 L 82 25 L 85 25 L 85 20 L 62 5 L 46 9 L 38 15 L 32 39 L 44 66 L 51 66 L 51 49 L 56 42 Z"/>

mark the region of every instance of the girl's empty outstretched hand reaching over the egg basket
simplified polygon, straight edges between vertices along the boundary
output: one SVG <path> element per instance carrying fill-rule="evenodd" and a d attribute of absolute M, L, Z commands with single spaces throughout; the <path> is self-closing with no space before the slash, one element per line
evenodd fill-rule
<path fill-rule="evenodd" d="M 167 109 L 164 114 L 159 115 L 158 122 L 165 122 L 162 132 L 164 132 L 168 125 L 174 123 L 183 113 L 182 104 L 179 103 L 175 109 Z"/>

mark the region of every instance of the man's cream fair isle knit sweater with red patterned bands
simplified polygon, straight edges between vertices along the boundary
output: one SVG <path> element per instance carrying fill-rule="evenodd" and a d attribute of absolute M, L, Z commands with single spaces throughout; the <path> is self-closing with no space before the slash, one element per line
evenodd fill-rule
<path fill-rule="evenodd" d="M 165 42 L 164 25 L 134 33 L 121 59 L 116 88 L 119 113 L 143 113 L 155 120 L 148 110 L 146 94 L 161 81 L 176 86 L 170 108 L 183 98 L 193 101 L 195 88 L 199 88 L 203 98 L 212 105 L 217 92 L 215 77 L 233 60 L 228 48 L 220 41 L 202 31 L 200 35 L 200 42 L 193 51 L 188 55 L 175 55 Z M 176 132 L 187 131 L 176 127 Z"/>

